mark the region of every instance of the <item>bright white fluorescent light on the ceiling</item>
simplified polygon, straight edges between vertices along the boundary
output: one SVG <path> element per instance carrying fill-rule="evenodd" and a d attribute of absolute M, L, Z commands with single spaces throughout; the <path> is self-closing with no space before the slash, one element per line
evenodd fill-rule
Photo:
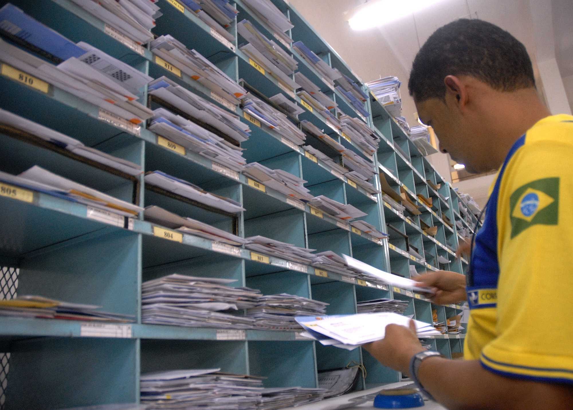
<path fill-rule="evenodd" d="M 427 9 L 442 0 L 373 0 L 356 7 L 348 24 L 353 30 L 367 30 L 381 26 L 415 11 Z"/>

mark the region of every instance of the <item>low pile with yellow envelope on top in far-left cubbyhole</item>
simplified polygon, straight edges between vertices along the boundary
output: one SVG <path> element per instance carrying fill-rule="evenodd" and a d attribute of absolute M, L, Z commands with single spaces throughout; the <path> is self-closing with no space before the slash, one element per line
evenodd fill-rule
<path fill-rule="evenodd" d="M 98 311 L 100 307 L 62 302 L 43 296 L 18 296 L 15 299 L 0 300 L 0 316 L 101 322 L 135 321 L 135 316 L 101 312 Z"/>

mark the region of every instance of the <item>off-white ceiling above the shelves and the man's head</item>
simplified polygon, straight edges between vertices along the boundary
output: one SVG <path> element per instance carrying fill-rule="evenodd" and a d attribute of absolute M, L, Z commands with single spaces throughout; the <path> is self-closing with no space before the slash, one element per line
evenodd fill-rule
<path fill-rule="evenodd" d="M 400 0 L 388 0 L 400 1 Z M 533 20 L 529 2 L 547 2 L 552 20 Z M 403 115 L 414 122 L 415 107 L 407 95 L 407 79 L 419 44 L 438 27 L 461 17 L 481 18 L 501 26 L 518 38 L 532 57 L 537 77 L 536 56 L 555 55 L 568 95 L 573 95 L 573 1 L 571 0 L 441 0 L 434 6 L 387 25 L 357 32 L 350 29 L 344 11 L 364 0 L 290 0 L 364 81 L 396 75 L 403 82 Z M 540 26 L 541 25 L 541 26 Z M 551 28 L 551 25 L 553 26 Z M 293 29 L 293 30 L 296 30 Z M 551 33 L 554 37 L 551 38 Z M 539 34 L 535 38 L 535 33 Z M 540 37 L 540 38 L 539 38 Z M 555 44 L 555 50 L 552 46 Z M 539 49 L 537 49 L 539 48 Z M 571 78 L 568 78 L 570 77 Z M 571 98 L 571 97 L 570 97 Z M 573 101 L 571 101 L 573 103 Z"/>

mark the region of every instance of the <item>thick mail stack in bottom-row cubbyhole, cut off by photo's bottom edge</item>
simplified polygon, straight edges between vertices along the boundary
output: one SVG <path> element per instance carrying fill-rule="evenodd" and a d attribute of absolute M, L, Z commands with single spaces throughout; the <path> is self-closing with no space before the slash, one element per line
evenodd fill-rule
<path fill-rule="evenodd" d="M 254 409 L 262 378 L 219 369 L 170 370 L 140 377 L 141 403 L 154 409 Z"/>

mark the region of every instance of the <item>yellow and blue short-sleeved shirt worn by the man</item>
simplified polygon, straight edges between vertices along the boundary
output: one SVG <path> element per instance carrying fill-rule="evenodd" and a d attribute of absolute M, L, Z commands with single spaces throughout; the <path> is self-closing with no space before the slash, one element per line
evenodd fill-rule
<path fill-rule="evenodd" d="M 573 117 L 513 145 L 476 235 L 465 358 L 509 377 L 573 383 Z"/>

